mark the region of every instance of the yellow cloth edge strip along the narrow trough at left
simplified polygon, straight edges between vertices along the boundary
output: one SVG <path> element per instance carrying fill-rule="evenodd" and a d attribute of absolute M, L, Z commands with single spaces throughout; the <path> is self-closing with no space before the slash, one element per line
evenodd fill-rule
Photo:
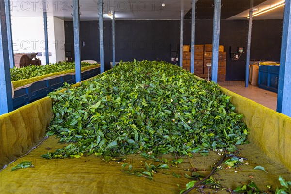
<path fill-rule="evenodd" d="M 93 69 L 93 68 L 96 68 L 96 67 L 99 67 L 99 66 L 100 66 L 100 64 L 82 67 L 81 68 L 81 71 L 85 71 L 85 70 L 88 70 L 88 69 Z M 70 70 L 66 70 L 66 71 L 60 71 L 60 72 L 50 73 L 50 74 L 46 74 L 46 75 L 42 75 L 42 76 L 37 76 L 37 77 L 29 78 L 29 79 L 12 81 L 12 85 L 13 85 L 13 88 L 16 89 L 18 87 L 21 87 L 21 86 L 24 86 L 24 85 L 33 83 L 35 81 L 42 80 L 44 78 L 48 78 L 48 77 L 52 77 L 52 76 L 57 76 L 57 75 L 61 75 L 61 74 L 66 74 L 66 73 L 74 73 L 74 72 L 75 72 L 75 69 L 70 69 Z"/>

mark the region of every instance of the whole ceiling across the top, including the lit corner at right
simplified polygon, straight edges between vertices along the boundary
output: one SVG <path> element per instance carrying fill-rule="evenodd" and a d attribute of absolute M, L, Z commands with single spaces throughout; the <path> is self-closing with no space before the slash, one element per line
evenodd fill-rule
<path fill-rule="evenodd" d="M 264 9 L 282 0 L 254 0 L 254 8 Z M 47 7 L 47 16 L 72 20 L 72 0 L 10 0 L 12 17 L 43 16 Z M 104 19 L 115 10 L 117 20 L 176 20 L 180 19 L 180 10 L 185 10 L 185 18 L 191 18 L 191 0 L 103 0 Z M 165 4 L 162 7 L 162 3 Z M 196 19 L 212 19 L 214 0 L 197 0 Z M 80 0 L 81 20 L 98 19 L 98 0 Z M 222 0 L 222 19 L 247 19 L 250 0 Z M 254 19 L 282 19 L 284 7 L 254 17 Z M 255 14 L 255 12 L 254 12 Z"/>

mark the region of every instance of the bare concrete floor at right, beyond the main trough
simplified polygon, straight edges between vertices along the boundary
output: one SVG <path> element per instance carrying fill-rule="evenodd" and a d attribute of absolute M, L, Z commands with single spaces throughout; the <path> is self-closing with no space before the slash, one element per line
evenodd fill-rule
<path fill-rule="evenodd" d="M 249 84 L 245 87 L 245 81 L 222 81 L 218 84 L 232 92 L 235 92 L 243 97 L 249 98 L 265 107 L 276 111 L 277 108 L 277 93 L 258 88 Z"/>

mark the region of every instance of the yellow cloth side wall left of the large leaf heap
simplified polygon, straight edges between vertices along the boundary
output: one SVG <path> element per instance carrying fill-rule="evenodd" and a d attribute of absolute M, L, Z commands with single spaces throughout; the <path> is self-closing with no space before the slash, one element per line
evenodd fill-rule
<path fill-rule="evenodd" d="M 37 145 L 51 118 L 52 100 L 49 97 L 0 115 L 0 168 Z"/>

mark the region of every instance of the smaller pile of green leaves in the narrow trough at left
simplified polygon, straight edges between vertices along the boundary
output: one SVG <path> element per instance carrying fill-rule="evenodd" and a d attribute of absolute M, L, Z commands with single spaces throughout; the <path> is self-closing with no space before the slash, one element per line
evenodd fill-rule
<path fill-rule="evenodd" d="M 91 66 L 91 65 L 97 65 L 97 64 L 90 64 L 82 62 L 81 66 Z M 10 75 L 11 75 L 11 81 L 18 81 L 18 80 L 24 80 L 29 78 L 34 78 L 37 76 L 42 76 L 50 73 L 56 73 L 66 70 L 75 69 L 75 63 L 73 62 L 59 62 L 55 64 L 48 64 L 43 66 L 35 66 L 35 65 L 29 65 L 22 68 L 14 67 L 10 69 Z"/>

